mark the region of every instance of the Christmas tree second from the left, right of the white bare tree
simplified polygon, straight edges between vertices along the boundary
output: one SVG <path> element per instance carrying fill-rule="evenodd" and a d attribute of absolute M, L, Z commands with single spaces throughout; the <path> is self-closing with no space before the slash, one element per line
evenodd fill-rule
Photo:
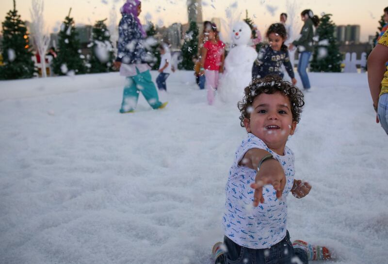
<path fill-rule="evenodd" d="M 59 75 L 86 72 L 84 56 L 81 55 L 80 43 L 76 39 L 78 33 L 74 27 L 74 20 L 70 17 L 70 12 L 71 8 L 61 25 L 61 31 L 58 34 L 58 56 L 53 59 L 54 73 Z"/>

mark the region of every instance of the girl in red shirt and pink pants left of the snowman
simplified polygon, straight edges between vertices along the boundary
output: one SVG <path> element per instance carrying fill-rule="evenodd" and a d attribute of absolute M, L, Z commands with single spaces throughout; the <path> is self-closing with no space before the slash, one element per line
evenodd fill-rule
<path fill-rule="evenodd" d="M 208 103 L 211 105 L 218 86 L 218 73 L 223 73 L 225 60 L 225 44 L 220 41 L 217 26 L 214 23 L 211 24 L 208 41 L 203 47 L 200 74 L 205 74 Z"/>

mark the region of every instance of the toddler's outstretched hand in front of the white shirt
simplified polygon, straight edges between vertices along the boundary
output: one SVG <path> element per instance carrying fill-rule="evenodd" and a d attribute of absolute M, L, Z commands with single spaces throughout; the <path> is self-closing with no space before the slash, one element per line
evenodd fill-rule
<path fill-rule="evenodd" d="M 255 189 L 253 194 L 253 206 L 258 206 L 259 203 L 264 203 L 263 186 L 271 184 L 276 190 L 276 197 L 280 198 L 284 187 L 286 186 L 286 176 L 279 161 L 269 160 L 265 161 L 259 172 L 256 175 L 255 183 L 251 184 L 251 188 Z"/>

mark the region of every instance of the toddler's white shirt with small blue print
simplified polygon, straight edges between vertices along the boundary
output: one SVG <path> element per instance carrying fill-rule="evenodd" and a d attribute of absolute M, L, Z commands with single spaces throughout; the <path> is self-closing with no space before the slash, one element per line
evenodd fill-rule
<path fill-rule="evenodd" d="M 251 148 L 260 148 L 271 153 L 284 169 L 287 183 L 282 197 L 276 198 L 272 185 L 263 187 L 264 204 L 253 207 L 256 170 L 240 166 L 239 162 Z M 225 235 L 240 246 L 250 249 L 266 249 L 280 242 L 287 232 L 287 200 L 294 180 L 294 154 L 287 146 L 284 156 L 276 154 L 265 143 L 248 133 L 237 148 L 236 157 L 229 170 L 226 183 L 226 202 L 223 225 Z"/>

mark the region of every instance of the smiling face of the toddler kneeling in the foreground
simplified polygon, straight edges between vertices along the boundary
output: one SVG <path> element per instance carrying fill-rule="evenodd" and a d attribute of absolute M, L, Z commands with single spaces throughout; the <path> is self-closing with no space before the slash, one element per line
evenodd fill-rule
<path fill-rule="evenodd" d="M 250 118 L 244 118 L 244 126 L 247 132 L 264 141 L 270 149 L 284 155 L 288 136 L 296 128 L 290 99 L 280 92 L 260 94 L 253 101 Z"/>

